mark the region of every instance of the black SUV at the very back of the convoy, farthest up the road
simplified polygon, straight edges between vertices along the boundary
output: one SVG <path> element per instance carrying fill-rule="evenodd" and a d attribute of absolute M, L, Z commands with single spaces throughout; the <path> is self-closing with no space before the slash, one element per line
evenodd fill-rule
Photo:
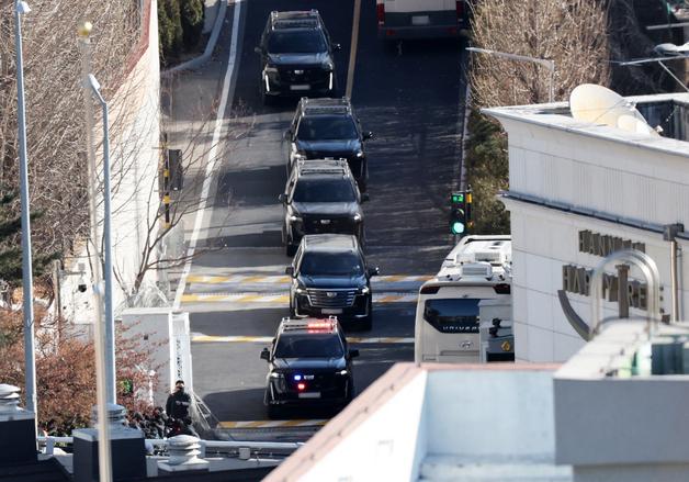
<path fill-rule="evenodd" d="M 256 52 L 261 55 L 263 102 L 278 96 L 335 93 L 332 44 L 318 10 L 271 12 Z"/>

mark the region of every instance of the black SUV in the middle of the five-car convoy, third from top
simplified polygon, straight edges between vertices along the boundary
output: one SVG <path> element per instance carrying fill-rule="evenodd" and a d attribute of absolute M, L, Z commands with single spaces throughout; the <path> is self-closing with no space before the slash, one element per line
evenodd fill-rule
<path fill-rule="evenodd" d="M 300 160 L 292 170 L 285 192 L 282 243 L 293 256 L 305 234 L 353 234 L 363 243 L 361 194 L 347 160 Z"/>

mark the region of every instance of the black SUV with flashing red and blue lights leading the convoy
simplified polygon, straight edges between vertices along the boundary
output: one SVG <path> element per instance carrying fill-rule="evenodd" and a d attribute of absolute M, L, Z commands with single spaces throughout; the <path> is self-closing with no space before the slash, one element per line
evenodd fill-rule
<path fill-rule="evenodd" d="M 354 396 L 352 358 L 336 317 L 283 318 L 270 348 L 263 403 L 276 418 L 285 406 L 343 407 Z"/>

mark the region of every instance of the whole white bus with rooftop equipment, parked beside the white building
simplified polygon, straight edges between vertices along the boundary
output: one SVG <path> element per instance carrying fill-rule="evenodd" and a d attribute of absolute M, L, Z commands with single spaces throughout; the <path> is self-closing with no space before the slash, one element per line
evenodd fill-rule
<path fill-rule="evenodd" d="M 478 303 L 511 304 L 510 236 L 465 236 L 450 251 L 434 279 L 419 290 L 416 306 L 416 362 L 478 362 Z"/>

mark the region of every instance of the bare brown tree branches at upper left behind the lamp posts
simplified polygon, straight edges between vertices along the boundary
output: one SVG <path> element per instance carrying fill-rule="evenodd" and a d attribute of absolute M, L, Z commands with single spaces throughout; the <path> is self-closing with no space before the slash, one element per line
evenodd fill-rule
<path fill-rule="evenodd" d="M 13 38 L 14 2 L 0 1 L 0 37 Z M 93 24 L 93 72 L 114 91 L 139 37 L 136 2 L 34 0 L 23 15 L 27 155 L 34 250 L 76 254 L 88 232 L 86 141 L 77 22 Z M 155 12 L 154 12 L 155 14 Z M 0 43 L 0 186 L 18 186 L 14 43 Z M 19 212 L 19 205 L 16 206 Z"/>

